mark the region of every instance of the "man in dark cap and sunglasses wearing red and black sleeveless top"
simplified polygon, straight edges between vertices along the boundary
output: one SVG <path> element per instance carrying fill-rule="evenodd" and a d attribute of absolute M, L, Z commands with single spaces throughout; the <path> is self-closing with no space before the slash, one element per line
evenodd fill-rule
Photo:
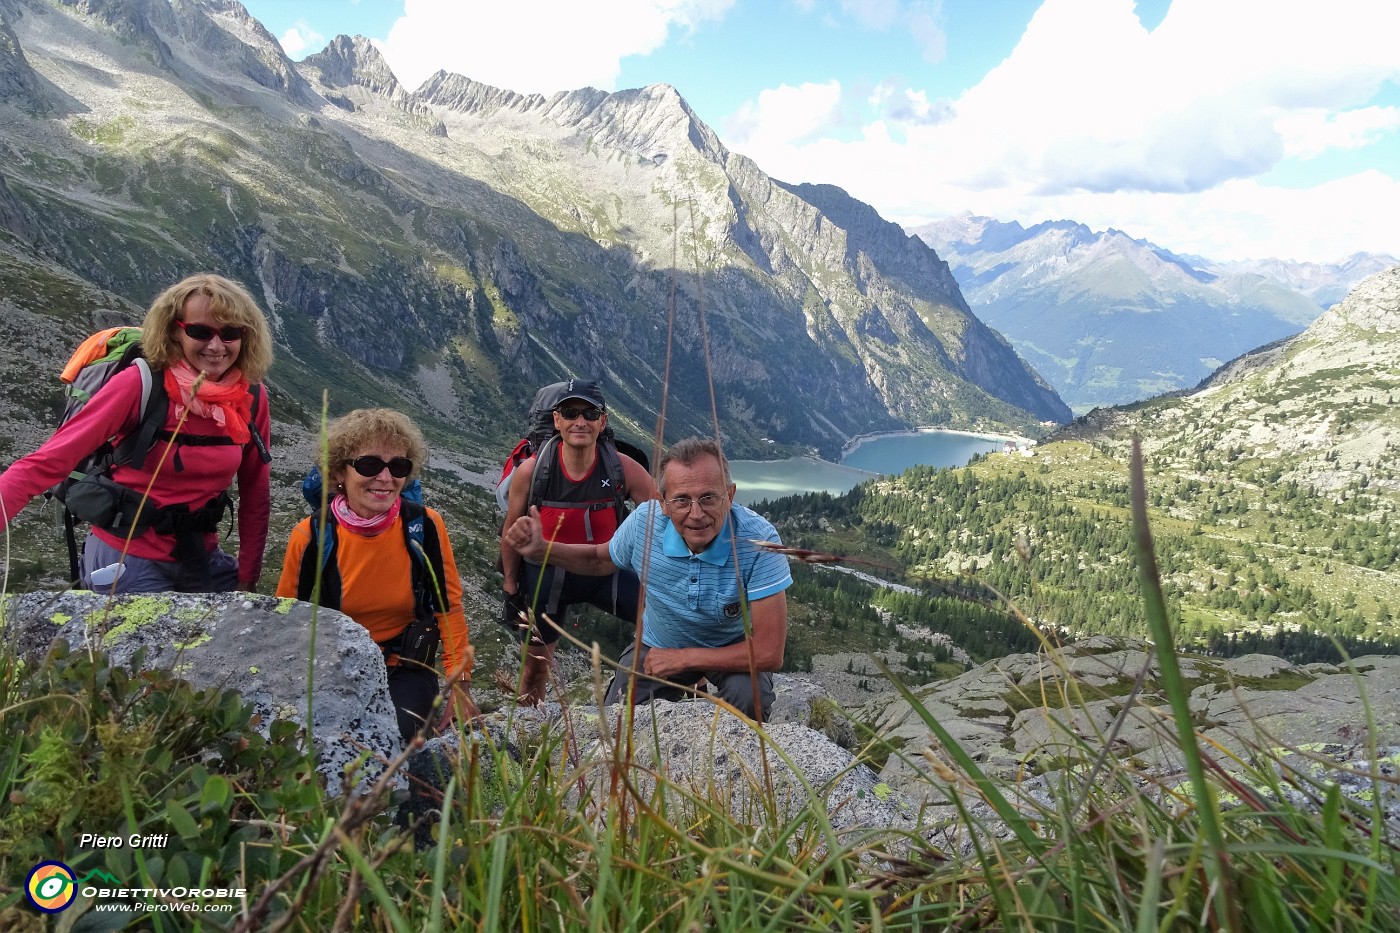
<path fill-rule="evenodd" d="M 554 443 L 515 468 L 505 509 L 505 528 L 531 506 L 539 507 L 540 528 L 552 544 L 606 544 L 617 531 L 619 496 L 615 476 L 599 448 L 608 427 L 608 408 L 596 382 L 571 380 L 561 385 L 553 405 Z M 606 457 L 613 451 L 606 451 Z M 540 457 L 545 465 L 540 466 Z M 631 457 L 617 451 L 622 465 L 623 496 L 634 504 L 657 497 L 651 475 Z M 536 468 L 547 471 L 538 502 L 531 502 Z M 575 604 L 595 605 L 624 622 L 637 621 L 637 576 L 613 570 L 603 576 L 567 573 L 563 569 L 522 556 L 501 537 L 501 573 L 508 611 L 524 619 L 533 618 L 525 649 L 525 672 L 521 677 L 521 702 L 531 706 L 545 699 L 549 671 L 559 644 L 564 615 Z"/>

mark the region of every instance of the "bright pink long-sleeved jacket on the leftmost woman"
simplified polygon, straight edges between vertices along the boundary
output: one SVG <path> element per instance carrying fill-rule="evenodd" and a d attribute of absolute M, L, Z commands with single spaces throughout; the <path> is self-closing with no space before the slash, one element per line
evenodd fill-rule
<path fill-rule="evenodd" d="M 161 378 L 161 373 L 155 373 Z M 78 462 L 102 445 L 109 437 L 120 438 L 140 422 L 141 377 L 136 367 L 122 370 L 92 396 L 73 420 L 53 433 L 39 450 L 17 459 L 0 474 L 0 530 L 8 525 L 29 500 L 66 478 Z M 262 392 L 253 427 L 263 440 L 270 440 L 272 417 L 267 412 L 267 392 Z M 175 405 L 169 405 L 165 430 L 175 430 Z M 220 434 L 210 419 L 189 415 L 181 427 L 185 434 Z M 167 452 L 169 451 L 169 452 Z M 178 466 L 176 469 L 176 451 Z M 164 461 L 164 462 L 162 462 Z M 224 492 L 238 479 L 238 583 L 252 586 L 262 574 L 263 548 L 267 544 L 267 516 L 272 504 L 270 468 L 262 461 L 255 444 L 183 445 L 157 440 L 146 455 L 141 469 L 116 466 L 112 479 L 127 489 L 146 492 L 157 506 L 189 506 L 199 509 Z M 120 549 L 126 542 L 101 528 L 92 534 Z M 207 534 L 210 551 L 218 546 L 218 535 Z M 148 560 L 169 560 L 175 546 L 171 535 L 147 530 L 132 541 L 130 553 Z"/>

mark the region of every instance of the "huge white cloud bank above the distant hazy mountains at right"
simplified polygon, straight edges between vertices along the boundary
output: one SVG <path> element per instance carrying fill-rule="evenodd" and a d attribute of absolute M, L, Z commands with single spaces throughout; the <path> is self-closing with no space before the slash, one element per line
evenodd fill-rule
<path fill-rule="evenodd" d="M 1046 0 L 958 101 L 889 87 L 822 97 L 802 133 L 725 140 L 784 181 L 840 185 L 906 223 L 973 210 L 1112 226 L 1221 259 L 1400 255 L 1400 113 L 1371 105 L 1400 83 L 1394 35 L 1394 0 L 1173 0 L 1152 32 L 1133 0 Z M 748 126 L 784 118 L 766 94 L 742 111 Z M 853 108 L 867 115 L 858 139 L 811 125 Z M 1373 171 L 1312 188 L 1257 181 L 1366 146 L 1389 153 Z"/>

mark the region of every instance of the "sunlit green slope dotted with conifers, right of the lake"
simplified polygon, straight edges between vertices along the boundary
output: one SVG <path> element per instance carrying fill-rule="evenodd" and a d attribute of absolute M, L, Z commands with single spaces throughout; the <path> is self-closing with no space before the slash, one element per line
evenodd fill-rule
<path fill-rule="evenodd" d="M 917 466 L 846 496 L 778 500 L 769 514 L 794 546 L 897 567 L 906 577 L 882 576 L 925 593 L 1016 605 L 1023 616 L 969 625 L 953 605 L 893 611 L 974 657 L 1018 650 L 1028 616 L 1070 637 L 1141 636 L 1141 538 L 1128 509 L 1140 440 L 1179 644 L 1310 660 L 1336 636 L 1357 658 L 1394 653 L 1397 401 L 1400 265 L 1201 387 L 1095 409 L 1029 457 Z"/>

